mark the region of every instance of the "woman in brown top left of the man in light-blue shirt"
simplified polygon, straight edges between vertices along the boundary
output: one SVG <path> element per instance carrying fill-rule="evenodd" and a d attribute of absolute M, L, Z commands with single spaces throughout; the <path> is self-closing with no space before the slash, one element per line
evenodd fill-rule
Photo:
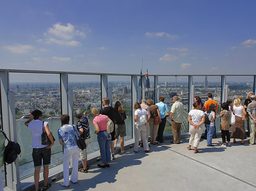
<path fill-rule="evenodd" d="M 156 135 L 158 135 L 159 124 L 154 123 L 154 118 L 158 116 L 161 121 L 161 114 L 157 105 L 154 105 L 154 101 L 152 99 L 147 100 L 147 105 L 150 107 L 150 144 L 157 144 L 155 141 Z"/>

